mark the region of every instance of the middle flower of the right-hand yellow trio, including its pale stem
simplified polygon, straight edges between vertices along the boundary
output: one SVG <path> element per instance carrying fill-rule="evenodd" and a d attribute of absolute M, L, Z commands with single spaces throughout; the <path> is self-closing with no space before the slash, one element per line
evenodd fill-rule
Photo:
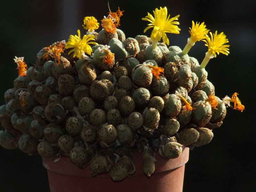
<path fill-rule="evenodd" d="M 210 31 L 206 28 L 206 25 L 204 25 L 204 22 L 200 23 L 196 21 L 196 24 L 194 21 L 192 21 L 192 28 L 190 28 L 190 38 L 188 38 L 188 43 L 184 47 L 182 51 L 182 55 L 188 54 L 189 50 L 192 46 L 196 43 L 196 41 L 200 41 L 205 39 L 207 36 L 206 34 Z"/>

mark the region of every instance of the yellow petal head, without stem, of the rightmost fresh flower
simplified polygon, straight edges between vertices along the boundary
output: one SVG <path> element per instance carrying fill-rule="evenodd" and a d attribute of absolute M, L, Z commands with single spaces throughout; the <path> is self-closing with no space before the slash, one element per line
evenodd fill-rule
<path fill-rule="evenodd" d="M 228 39 L 226 38 L 226 35 L 221 32 L 220 34 L 217 33 L 217 31 L 215 31 L 214 35 L 212 35 L 212 32 L 210 32 L 211 38 L 206 35 L 206 39 L 203 40 L 206 44 L 205 46 L 208 47 L 208 52 L 211 52 L 212 55 L 214 55 L 214 57 L 216 57 L 216 53 L 219 55 L 219 53 L 222 53 L 224 55 L 228 55 L 229 53 L 229 45 L 227 45 L 226 43 L 228 43 Z"/>

